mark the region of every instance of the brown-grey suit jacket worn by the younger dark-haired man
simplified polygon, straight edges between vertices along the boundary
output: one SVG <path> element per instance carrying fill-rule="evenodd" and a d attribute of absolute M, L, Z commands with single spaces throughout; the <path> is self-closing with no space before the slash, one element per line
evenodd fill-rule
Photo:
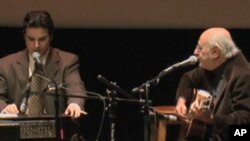
<path fill-rule="evenodd" d="M 0 111 L 9 103 L 20 107 L 23 90 L 29 81 L 28 52 L 22 50 L 0 59 Z M 76 55 L 51 48 L 46 64 L 46 77 L 61 82 L 68 90 L 60 90 L 59 94 L 85 95 L 84 83 L 79 74 L 79 59 Z M 42 86 L 47 92 L 47 85 Z M 54 97 L 44 96 L 45 109 L 48 114 L 54 114 Z M 82 109 L 84 100 L 72 97 L 59 98 L 59 112 L 62 113 L 69 103 L 77 103 Z"/>

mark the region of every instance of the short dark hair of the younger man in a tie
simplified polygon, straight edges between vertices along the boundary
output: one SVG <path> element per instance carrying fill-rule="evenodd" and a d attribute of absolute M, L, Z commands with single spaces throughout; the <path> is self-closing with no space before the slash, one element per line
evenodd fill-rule
<path fill-rule="evenodd" d="M 42 27 L 48 29 L 49 34 L 52 36 L 54 32 L 54 23 L 50 14 L 46 11 L 31 11 L 26 14 L 23 19 L 23 32 L 29 27 Z"/>

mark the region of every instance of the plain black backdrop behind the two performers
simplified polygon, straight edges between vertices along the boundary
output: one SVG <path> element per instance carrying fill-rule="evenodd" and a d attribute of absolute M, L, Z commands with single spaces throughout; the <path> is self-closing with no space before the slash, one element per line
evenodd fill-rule
<path fill-rule="evenodd" d="M 80 57 L 80 73 L 88 91 L 106 96 L 107 86 L 97 80 L 101 74 L 130 93 L 131 89 L 155 77 L 168 66 L 192 55 L 203 29 L 56 29 L 54 47 Z M 232 36 L 248 59 L 249 29 L 230 29 Z M 24 48 L 20 28 L 0 27 L 0 57 Z M 1 65 L 1 64 L 0 64 Z M 164 76 L 150 87 L 152 105 L 175 104 L 175 90 L 181 68 Z M 139 98 L 138 94 L 131 94 Z M 125 98 L 122 94 L 118 97 Z M 116 110 L 116 140 L 143 140 L 143 114 L 140 105 L 119 102 Z M 82 121 L 86 140 L 94 140 L 99 129 L 102 102 L 87 100 L 89 113 Z M 109 136 L 107 115 L 100 140 Z"/>

